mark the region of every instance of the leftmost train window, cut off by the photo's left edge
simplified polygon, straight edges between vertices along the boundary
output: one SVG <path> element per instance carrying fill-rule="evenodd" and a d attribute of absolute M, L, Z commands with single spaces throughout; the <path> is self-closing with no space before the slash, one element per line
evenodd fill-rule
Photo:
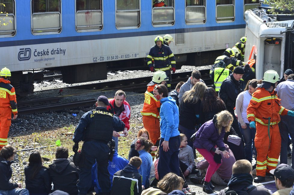
<path fill-rule="evenodd" d="M 0 26 L 0 36 L 14 36 L 16 32 L 15 2 L 14 0 L 0 0 L 0 3 L 5 5 L 5 7 L 4 5 L 1 5 L 1 11 L 3 13 L 0 14 L 0 18 L 2 20 L 2 26 Z M 5 25 L 3 25 L 3 23 L 5 23 Z"/>

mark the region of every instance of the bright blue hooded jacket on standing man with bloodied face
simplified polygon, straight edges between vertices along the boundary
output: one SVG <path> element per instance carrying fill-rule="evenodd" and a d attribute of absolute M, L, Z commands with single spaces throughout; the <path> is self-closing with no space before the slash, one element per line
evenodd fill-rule
<path fill-rule="evenodd" d="M 170 137 L 175 137 L 179 132 L 179 108 L 176 101 L 168 96 L 160 100 L 160 137 L 169 141 Z"/>

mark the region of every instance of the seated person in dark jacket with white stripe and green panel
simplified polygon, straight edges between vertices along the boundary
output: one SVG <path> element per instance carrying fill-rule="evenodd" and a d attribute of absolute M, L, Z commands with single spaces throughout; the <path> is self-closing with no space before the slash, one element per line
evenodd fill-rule
<path fill-rule="evenodd" d="M 141 158 L 134 156 L 123 170 L 113 176 L 111 195 L 140 195 L 142 192 L 142 176 L 138 170 L 142 164 Z"/>

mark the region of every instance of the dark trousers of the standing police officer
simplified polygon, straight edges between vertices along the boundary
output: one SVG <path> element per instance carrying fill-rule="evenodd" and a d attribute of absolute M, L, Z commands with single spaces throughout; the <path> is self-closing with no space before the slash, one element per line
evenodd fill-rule
<path fill-rule="evenodd" d="M 110 192 L 110 179 L 108 172 L 109 147 L 103 141 L 84 142 L 82 155 L 85 156 L 83 166 L 79 164 L 79 182 L 77 184 L 80 194 L 87 194 L 92 184 L 92 166 L 97 162 L 98 182 L 102 192 Z"/>

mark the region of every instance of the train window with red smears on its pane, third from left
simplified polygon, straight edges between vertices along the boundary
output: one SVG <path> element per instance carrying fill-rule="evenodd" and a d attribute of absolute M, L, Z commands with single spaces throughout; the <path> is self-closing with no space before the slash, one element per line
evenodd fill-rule
<path fill-rule="evenodd" d="M 103 28 L 102 0 L 76 0 L 75 28 L 78 32 Z"/>

